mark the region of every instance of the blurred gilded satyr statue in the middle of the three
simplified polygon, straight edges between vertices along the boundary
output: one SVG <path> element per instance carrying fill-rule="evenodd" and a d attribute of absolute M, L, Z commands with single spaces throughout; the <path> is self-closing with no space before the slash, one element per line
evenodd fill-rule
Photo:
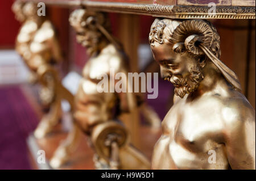
<path fill-rule="evenodd" d="M 98 92 L 101 74 L 127 74 L 128 66 L 121 45 L 110 35 L 106 14 L 78 9 L 69 21 L 77 33 L 77 41 L 86 47 L 90 59 L 82 71 L 82 79 L 75 96 L 75 121 L 96 151 L 96 169 L 149 169 L 150 162 L 131 146 L 129 133 L 117 117 L 135 108 L 132 93 Z M 132 120 L 131 120 L 132 121 Z"/>

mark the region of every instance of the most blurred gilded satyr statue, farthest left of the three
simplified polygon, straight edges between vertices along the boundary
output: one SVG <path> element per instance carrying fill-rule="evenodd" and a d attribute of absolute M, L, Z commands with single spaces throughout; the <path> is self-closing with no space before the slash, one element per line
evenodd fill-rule
<path fill-rule="evenodd" d="M 31 71 L 30 81 L 42 86 L 40 99 L 49 107 L 49 112 L 43 116 L 34 132 L 36 138 L 43 138 L 61 119 L 61 100 L 67 100 L 71 112 L 73 111 L 73 95 L 61 84 L 55 67 L 63 58 L 51 22 L 46 17 L 37 15 L 37 6 L 32 2 L 16 1 L 13 11 L 23 23 L 16 39 L 16 50 Z M 77 135 L 76 126 L 74 127 L 75 131 L 69 133 L 69 138 L 60 147 L 72 146 Z"/>

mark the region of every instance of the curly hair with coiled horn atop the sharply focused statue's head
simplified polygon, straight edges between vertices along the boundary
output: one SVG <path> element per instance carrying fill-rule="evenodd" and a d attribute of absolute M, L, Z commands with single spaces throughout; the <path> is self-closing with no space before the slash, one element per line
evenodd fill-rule
<path fill-rule="evenodd" d="M 197 35 L 197 38 L 194 35 Z M 216 57 L 220 57 L 220 36 L 212 23 L 207 20 L 172 20 L 155 19 L 151 26 L 149 42 L 163 44 L 164 41 L 173 45 L 176 53 L 185 50 L 197 56 L 204 52 L 197 47 L 198 43 L 203 43 Z"/>

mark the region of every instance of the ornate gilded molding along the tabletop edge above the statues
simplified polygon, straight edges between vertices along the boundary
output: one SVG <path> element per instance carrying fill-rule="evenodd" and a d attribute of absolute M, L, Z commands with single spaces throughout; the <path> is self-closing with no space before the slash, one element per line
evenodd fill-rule
<path fill-rule="evenodd" d="M 27 0 L 23 0 L 27 1 Z M 208 14 L 208 6 L 146 5 L 118 2 L 92 1 L 39 1 L 47 5 L 78 7 L 86 6 L 94 11 L 150 15 L 175 19 L 255 19 L 255 6 L 216 6 L 216 15 Z"/>

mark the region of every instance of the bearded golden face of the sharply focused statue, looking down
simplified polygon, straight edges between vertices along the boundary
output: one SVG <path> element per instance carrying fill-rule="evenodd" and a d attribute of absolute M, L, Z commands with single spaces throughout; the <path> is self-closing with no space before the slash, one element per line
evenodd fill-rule
<path fill-rule="evenodd" d="M 197 89 L 203 80 L 198 57 L 187 52 L 175 53 L 170 43 L 155 42 L 151 50 L 160 65 L 161 77 L 175 86 L 176 95 L 183 98 L 185 94 Z"/>

